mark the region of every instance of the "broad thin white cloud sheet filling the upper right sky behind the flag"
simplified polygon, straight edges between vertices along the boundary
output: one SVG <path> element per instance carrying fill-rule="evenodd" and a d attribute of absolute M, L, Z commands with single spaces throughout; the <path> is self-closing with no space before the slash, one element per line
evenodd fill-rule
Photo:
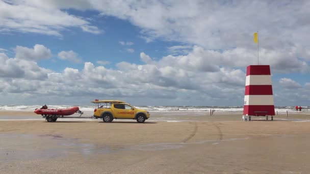
<path fill-rule="evenodd" d="M 163 38 L 219 49 L 248 47 L 259 28 L 262 47 L 281 47 L 282 41 L 302 39 L 308 25 L 309 2 L 96 2 L 102 15 L 127 19 L 142 28 L 145 37 Z M 257 13 L 260 9 L 262 13 Z M 277 9 L 277 10 L 270 10 Z M 298 10 L 298 12 L 296 12 Z M 186 13 L 184 13 L 186 11 Z M 227 15 L 229 14 L 229 15 Z M 292 15 L 294 14 L 294 15 Z M 276 20 L 273 20 L 274 16 Z M 152 22 L 149 22 L 152 21 Z M 259 23 L 259 24 L 258 24 Z M 268 28 L 264 29 L 264 28 Z M 285 28 L 281 30 L 280 28 Z M 302 33 L 302 34 L 301 34 Z M 278 37 L 281 36 L 281 37 Z M 281 43 L 276 45 L 275 42 Z"/>

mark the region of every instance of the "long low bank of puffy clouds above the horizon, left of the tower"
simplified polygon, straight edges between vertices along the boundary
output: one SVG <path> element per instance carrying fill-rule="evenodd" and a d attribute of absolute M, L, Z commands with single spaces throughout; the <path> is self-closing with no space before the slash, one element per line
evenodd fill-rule
<path fill-rule="evenodd" d="M 68 52 L 70 51 L 63 52 L 66 53 L 63 54 L 64 57 L 67 57 Z M 0 81 L 5 82 L 0 85 L 0 89 L 4 94 L 23 94 L 24 99 L 28 95 L 29 101 L 32 100 L 31 96 L 36 94 L 49 96 L 51 101 L 53 96 L 68 98 L 81 96 L 84 99 L 86 96 L 87 98 L 106 96 L 130 100 L 165 98 L 166 102 L 173 102 L 178 98 L 181 103 L 189 100 L 194 102 L 200 98 L 204 98 L 204 101 L 206 98 L 208 101 L 212 98 L 214 100 L 238 98 L 242 101 L 245 74 L 241 70 L 218 68 L 217 71 L 205 72 L 197 68 L 185 68 L 179 63 L 182 62 L 181 56 L 170 57 L 175 64 L 167 57 L 154 61 L 145 53 L 141 53 L 140 56 L 145 64 L 121 62 L 117 64 L 116 69 L 107 69 L 87 62 L 82 70 L 68 67 L 56 73 L 38 67 L 30 59 L 9 58 L 2 53 L 0 61 L 6 62 L 6 66 L 2 66 L 0 70 L 6 73 L 1 73 Z M 20 73 L 16 73 L 17 70 L 20 70 Z M 16 79 L 22 80 L 19 82 Z M 232 91 L 234 93 L 231 93 Z M 55 101 L 59 101 L 59 98 Z"/>

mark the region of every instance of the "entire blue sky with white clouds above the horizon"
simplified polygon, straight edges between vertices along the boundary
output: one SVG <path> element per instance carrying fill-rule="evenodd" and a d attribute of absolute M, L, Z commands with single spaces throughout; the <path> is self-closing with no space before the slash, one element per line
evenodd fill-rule
<path fill-rule="evenodd" d="M 302 0 L 0 0 L 0 104 L 242 106 L 259 31 L 275 106 L 309 106 L 308 9 Z"/>

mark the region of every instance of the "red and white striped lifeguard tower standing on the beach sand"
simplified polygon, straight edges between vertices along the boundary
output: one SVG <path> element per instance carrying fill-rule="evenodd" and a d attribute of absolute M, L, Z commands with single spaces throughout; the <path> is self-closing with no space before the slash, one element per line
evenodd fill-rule
<path fill-rule="evenodd" d="M 251 116 L 271 115 L 274 102 L 269 65 L 250 65 L 246 70 L 243 114 Z"/>

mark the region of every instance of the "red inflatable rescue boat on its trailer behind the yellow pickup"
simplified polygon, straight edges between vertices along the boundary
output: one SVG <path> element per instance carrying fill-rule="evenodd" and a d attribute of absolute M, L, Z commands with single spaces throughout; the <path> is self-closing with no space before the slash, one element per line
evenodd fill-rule
<path fill-rule="evenodd" d="M 47 106 L 45 108 L 43 106 L 40 109 L 36 109 L 35 113 L 42 115 L 42 117 L 45 118 L 47 122 L 56 122 L 58 117 L 72 115 L 73 113 L 80 113 L 81 115 L 83 114 L 83 112 L 77 106 L 66 109 L 48 109 Z"/>

